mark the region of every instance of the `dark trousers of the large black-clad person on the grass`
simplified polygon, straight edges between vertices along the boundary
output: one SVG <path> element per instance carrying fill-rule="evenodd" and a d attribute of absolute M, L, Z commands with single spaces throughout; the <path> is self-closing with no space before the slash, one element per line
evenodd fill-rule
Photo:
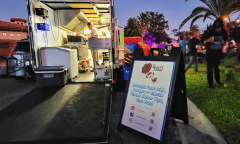
<path fill-rule="evenodd" d="M 213 69 L 214 69 L 214 77 L 217 82 L 220 82 L 220 75 L 219 75 L 219 64 L 220 64 L 220 57 L 208 57 L 207 58 L 207 80 L 208 84 L 213 84 Z"/>

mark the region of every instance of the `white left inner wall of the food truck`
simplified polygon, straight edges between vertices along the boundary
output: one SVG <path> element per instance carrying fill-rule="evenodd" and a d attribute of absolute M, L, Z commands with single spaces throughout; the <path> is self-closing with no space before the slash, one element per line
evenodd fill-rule
<path fill-rule="evenodd" d="M 46 20 L 42 17 L 35 15 L 35 8 L 44 8 L 48 10 L 48 16 Z M 33 33 L 33 41 L 34 41 L 34 50 L 36 55 L 36 66 L 39 67 L 41 65 L 41 57 L 39 54 L 39 49 L 41 47 L 54 47 L 60 46 L 62 44 L 67 43 L 67 35 L 70 34 L 70 31 L 65 31 L 60 29 L 55 25 L 60 17 L 54 16 L 54 10 L 47 7 L 45 4 L 41 2 L 35 2 L 34 0 L 30 0 L 30 11 L 31 11 L 31 20 L 32 20 L 32 33 Z M 55 21 L 56 19 L 56 21 Z M 50 26 L 50 31 L 40 31 L 37 30 L 37 23 L 47 23 Z M 76 33 L 73 33 L 74 35 Z"/>

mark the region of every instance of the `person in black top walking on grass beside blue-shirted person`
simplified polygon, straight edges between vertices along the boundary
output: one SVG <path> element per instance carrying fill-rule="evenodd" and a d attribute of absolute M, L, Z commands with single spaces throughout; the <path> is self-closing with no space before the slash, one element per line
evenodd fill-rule
<path fill-rule="evenodd" d="M 189 52 L 188 55 L 190 56 L 190 61 L 188 65 L 185 67 L 185 73 L 191 67 L 191 65 L 195 64 L 195 72 L 198 72 L 198 65 L 197 65 L 197 46 L 199 45 L 200 41 L 198 37 L 198 31 L 194 33 L 190 33 L 191 39 L 188 41 L 188 48 Z"/>

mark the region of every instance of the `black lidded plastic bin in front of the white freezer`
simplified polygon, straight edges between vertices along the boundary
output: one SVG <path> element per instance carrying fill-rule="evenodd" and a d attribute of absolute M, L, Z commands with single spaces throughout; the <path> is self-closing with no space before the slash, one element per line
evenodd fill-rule
<path fill-rule="evenodd" d="M 39 87 L 63 87 L 67 83 L 65 66 L 42 66 L 34 69 Z"/>

